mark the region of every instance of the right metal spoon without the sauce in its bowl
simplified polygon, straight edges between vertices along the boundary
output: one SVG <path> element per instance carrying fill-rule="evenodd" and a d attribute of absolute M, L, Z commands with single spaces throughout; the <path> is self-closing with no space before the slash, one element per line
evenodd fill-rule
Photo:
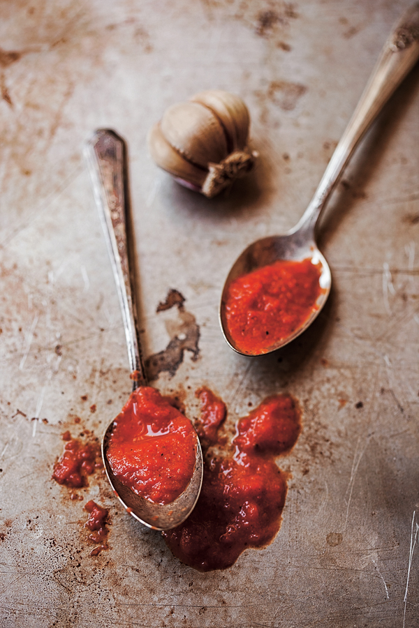
<path fill-rule="evenodd" d="M 323 257 L 316 246 L 315 235 L 318 218 L 332 191 L 337 186 L 344 167 L 352 156 L 358 142 L 406 74 L 413 68 L 418 57 L 419 3 L 415 3 L 404 13 L 402 19 L 393 28 L 387 43 L 385 43 L 353 117 L 349 121 L 339 144 L 337 144 L 325 174 L 323 174 L 323 178 L 314 193 L 314 197 L 300 221 L 291 231 L 284 235 L 265 237 L 253 242 L 233 264 L 223 287 L 220 322 L 226 341 L 237 353 L 262 355 L 283 347 L 302 334 L 302 331 L 309 327 L 321 311 L 321 308 L 323 308 L 330 293 L 332 276 L 328 262 L 326 262 L 325 257 Z M 252 352 L 244 353 L 237 348 L 234 338 L 231 337 L 228 331 L 226 321 L 226 299 L 230 283 L 240 276 L 272 264 L 277 260 L 305 260 L 307 258 L 311 258 L 314 264 L 320 264 L 321 267 L 319 282 L 323 290 L 316 301 L 316 311 L 312 312 L 309 319 L 301 327 L 295 329 L 290 336 L 267 350 L 256 349 Z"/>

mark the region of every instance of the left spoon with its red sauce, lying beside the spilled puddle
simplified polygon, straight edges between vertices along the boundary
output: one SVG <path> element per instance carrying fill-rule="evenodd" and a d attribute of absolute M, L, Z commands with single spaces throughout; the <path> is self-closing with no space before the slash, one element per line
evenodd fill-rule
<path fill-rule="evenodd" d="M 126 510 L 155 530 L 182 523 L 198 500 L 203 455 L 189 419 L 147 385 L 134 299 L 133 228 L 126 146 L 114 131 L 94 133 L 85 150 L 94 196 L 122 310 L 133 392 L 110 423 L 102 456 L 110 485 Z"/>

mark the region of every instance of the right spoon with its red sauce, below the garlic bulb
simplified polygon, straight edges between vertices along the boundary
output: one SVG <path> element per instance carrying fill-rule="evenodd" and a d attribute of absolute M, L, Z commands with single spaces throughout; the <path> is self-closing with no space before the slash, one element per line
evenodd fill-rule
<path fill-rule="evenodd" d="M 290 343 L 314 321 L 332 276 L 316 246 L 316 225 L 344 167 L 383 105 L 419 57 L 419 3 L 396 24 L 302 218 L 284 235 L 253 242 L 223 287 L 220 322 L 237 353 L 263 355 Z"/>

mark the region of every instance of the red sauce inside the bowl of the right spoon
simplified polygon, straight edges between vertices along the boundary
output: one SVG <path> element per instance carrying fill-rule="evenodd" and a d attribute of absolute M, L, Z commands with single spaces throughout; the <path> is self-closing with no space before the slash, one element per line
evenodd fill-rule
<path fill-rule="evenodd" d="M 230 283 L 226 323 L 231 338 L 247 354 L 269 351 L 300 329 L 317 309 L 320 264 L 279 260 Z"/>

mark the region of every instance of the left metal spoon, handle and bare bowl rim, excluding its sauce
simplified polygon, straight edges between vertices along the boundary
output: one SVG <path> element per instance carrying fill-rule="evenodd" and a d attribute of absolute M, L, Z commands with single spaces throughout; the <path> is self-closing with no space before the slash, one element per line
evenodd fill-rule
<path fill-rule="evenodd" d="M 147 386 L 147 377 L 142 364 L 138 315 L 133 298 L 135 294 L 133 276 L 135 265 L 133 264 L 133 230 L 128 204 L 125 142 L 122 137 L 110 129 L 97 130 L 91 140 L 87 142 L 85 156 L 117 285 L 131 377 L 134 378 L 133 390 L 135 390 L 138 386 Z M 113 421 L 103 436 L 102 456 L 105 471 L 115 495 L 135 519 L 149 528 L 154 528 L 154 530 L 175 528 L 193 510 L 203 481 L 203 454 L 198 435 L 195 433 L 196 462 L 188 486 L 174 502 L 161 505 L 141 498 L 131 488 L 124 486 L 113 474 L 106 456 L 112 428 Z"/>

